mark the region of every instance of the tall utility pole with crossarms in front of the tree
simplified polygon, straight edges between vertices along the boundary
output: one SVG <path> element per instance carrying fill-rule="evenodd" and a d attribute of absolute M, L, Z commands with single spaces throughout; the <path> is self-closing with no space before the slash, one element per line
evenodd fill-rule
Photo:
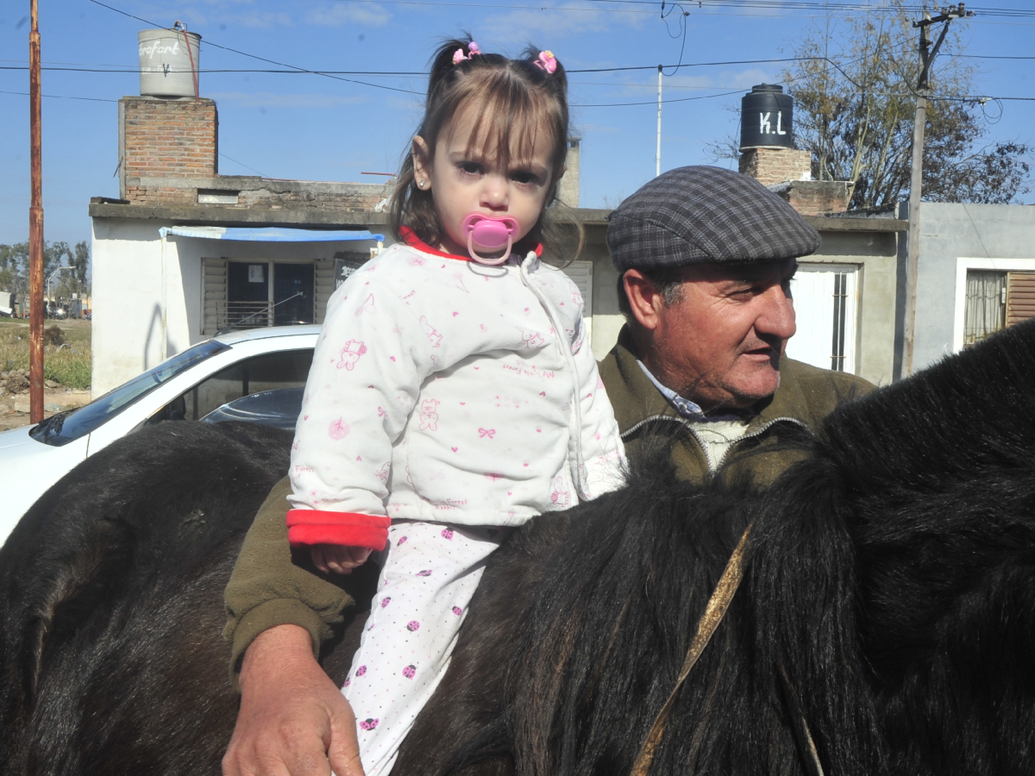
<path fill-rule="evenodd" d="M 930 65 L 949 31 L 953 19 L 973 17 L 964 4 L 943 8 L 937 17 L 923 11 L 923 19 L 914 22 L 920 28 L 920 78 L 916 84 L 916 117 L 913 121 L 913 160 L 910 165 L 909 233 L 906 240 L 906 311 L 903 326 L 903 377 L 913 374 L 913 340 L 916 334 L 916 281 L 920 258 L 920 196 L 923 193 L 923 130 L 927 120 L 927 95 L 930 93 Z M 944 22 L 938 42 L 930 47 L 930 26 Z"/>

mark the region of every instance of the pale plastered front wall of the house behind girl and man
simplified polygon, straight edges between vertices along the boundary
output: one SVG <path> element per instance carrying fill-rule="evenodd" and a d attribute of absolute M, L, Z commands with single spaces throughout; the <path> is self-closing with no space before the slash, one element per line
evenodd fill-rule
<path fill-rule="evenodd" d="M 597 359 L 614 346 L 624 323 L 618 311 L 618 273 L 604 243 L 607 223 L 601 212 L 581 213 L 587 222 L 586 245 L 580 260 L 593 263 L 591 347 Z M 158 230 L 173 223 L 159 218 L 93 218 L 94 395 L 161 361 L 162 250 Z M 383 225 L 369 225 L 369 229 L 384 231 Z M 861 268 L 856 372 L 874 383 L 889 383 L 895 341 L 895 233 L 821 229 L 821 234 L 823 244 L 808 258 L 809 262 Z M 341 242 L 246 243 L 168 238 L 166 355 L 179 353 L 205 336 L 201 334 L 202 257 L 312 262 L 355 248 L 356 243 Z"/>

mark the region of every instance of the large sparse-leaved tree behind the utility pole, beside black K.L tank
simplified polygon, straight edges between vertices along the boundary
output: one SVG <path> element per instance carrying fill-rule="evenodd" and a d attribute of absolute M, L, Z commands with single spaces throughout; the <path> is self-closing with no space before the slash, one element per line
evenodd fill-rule
<path fill-rule="evenodd" d="M 782 73 L 795 99 L 795 142 L 812 154 L 812 177 L 855 183 L 851 208 L 909 197 L 918 33 L 898 0 L 891 12 L 821 22 L 794 44 Z M 953 22 L 954 25 L 966 22 Z M 938 34 L 939 29 L 934 30 Z M 923 199 L 1008 203 L 1029 191 L 1028 146 L 986 139 L 974 70 L 953 55 L 950 31 L 931 68 Z"/>

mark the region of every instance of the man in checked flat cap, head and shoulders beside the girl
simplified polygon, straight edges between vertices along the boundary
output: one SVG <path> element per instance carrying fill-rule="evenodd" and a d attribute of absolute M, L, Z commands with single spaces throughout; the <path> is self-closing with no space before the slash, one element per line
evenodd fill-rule
<path fill-rule="evenodd" d="M 782 356 L 795 332 L 790 281 L 820 236 L 758 181 L 713 167 L 655 178 L 612 214 L 608 247 L 628 324 L 600 376 L 630 451 L 684 427 L 680 474 L 720 464 L 771 482 L 839 402 L 869 390 Z"/>

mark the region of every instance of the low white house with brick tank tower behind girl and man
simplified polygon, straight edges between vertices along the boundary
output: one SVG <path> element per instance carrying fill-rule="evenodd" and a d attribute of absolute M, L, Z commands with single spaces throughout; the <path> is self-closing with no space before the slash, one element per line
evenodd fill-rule
<path fill-rule="evenodd" d="M 321 323 L 336 282 L 392 239 L 385 209 L 393 181 L 224 176 L 217 147 L 210 99 L 119 101 L 120 199 L 94 198 L 89 211 L 94 395 L 229 325 Z M 562 198 L 575 204 L 578 153 L 572 140 Z M 789 352 L 890 382 L 905 223 L 820 215 L 844 210 L 844 184 L 780 183 L 780 153 L 764 149 L 748 172 L 775 184 L 823 236 L 796 281 L 799 333 Z M 593 352 L 602 358 L 622 325 L 604 244 L 609 211 L 574 212 L 586 247 L 564 270 L 583 292 Z"/>

